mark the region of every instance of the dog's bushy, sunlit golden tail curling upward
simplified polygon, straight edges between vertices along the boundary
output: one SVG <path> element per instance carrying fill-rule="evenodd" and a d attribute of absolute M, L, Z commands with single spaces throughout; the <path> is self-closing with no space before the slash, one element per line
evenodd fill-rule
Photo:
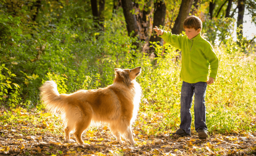
<path fill-rule="evenodd" d="M 54 81 L 46 81 L 40 88 L 41 100 L 43 100 L 45 107 L 52 111 L 62 111 L 66 104 L 64 98 L 67 94 L 59 94 L 57 84 Z"/>

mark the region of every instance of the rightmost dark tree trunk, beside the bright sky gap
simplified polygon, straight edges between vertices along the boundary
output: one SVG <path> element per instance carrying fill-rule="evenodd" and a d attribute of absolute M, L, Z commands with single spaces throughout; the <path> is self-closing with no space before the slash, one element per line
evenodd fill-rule
<path fill-rule="evenodd" d="M 243 36 L 243 18 L 244 18 L 245 0 L 238 0 L 238 16 L 237 16 L 237 37 Z"/>

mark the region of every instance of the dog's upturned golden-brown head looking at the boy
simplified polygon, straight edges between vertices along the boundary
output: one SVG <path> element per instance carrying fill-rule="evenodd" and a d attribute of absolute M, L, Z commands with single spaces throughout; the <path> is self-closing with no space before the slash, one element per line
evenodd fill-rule
<path fill-rule="evenodd" d="M 129 85 L 133 80 L 136 79 L 138 75 L 140 75 L 141 67 L 136 67 L 133 69 L 120 69 L 115 68 L 116 77 L 114 82 L 124 82 Z"/>

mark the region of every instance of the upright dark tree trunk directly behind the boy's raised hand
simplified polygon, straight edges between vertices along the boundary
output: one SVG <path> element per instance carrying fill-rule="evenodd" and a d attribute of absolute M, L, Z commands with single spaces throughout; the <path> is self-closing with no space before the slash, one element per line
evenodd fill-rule
<path fill-rule="evenodd" d="M 158 1 L 154 3 L 155 9 L 154 9 L 154 20 L 153 20 L 153 27 L 157 26 L 158 28 L 160 26 L 165 25 L 165 15 L 166 15 L 166 5 L 164 1 Z M 150 42 L 159 42 L 160 45 L 162 45 L 162 38 L 158 37 L 155 33 L 153 32 L 154 35 L 151 35 L 150 37 Z M 151 47 L 150 51 L 153 51 L 154 48 Z"/>

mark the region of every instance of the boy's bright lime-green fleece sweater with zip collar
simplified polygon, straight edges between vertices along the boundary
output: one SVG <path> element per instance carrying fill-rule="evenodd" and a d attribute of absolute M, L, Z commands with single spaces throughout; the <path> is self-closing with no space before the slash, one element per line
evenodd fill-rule
<path fill-rule="evenodd" d="M 188 83 L 206 82 L 209 77 L 216 79 L 218 73 L 218 57 L 212 45 L 201 37 L 201 32 L 188 39 L 187 35 L 174 35 L 165 31 L 159 35 L 166 43 L 181 49 L 180 77 Z"/>

